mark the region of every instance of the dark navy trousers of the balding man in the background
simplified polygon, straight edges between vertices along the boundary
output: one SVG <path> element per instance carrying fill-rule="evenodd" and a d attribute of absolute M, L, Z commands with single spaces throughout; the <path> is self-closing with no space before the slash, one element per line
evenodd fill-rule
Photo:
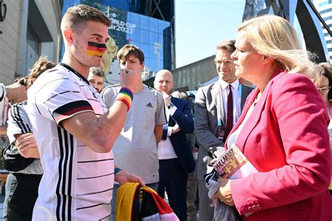
<path fill-rule="evenodd" d="M 187 179 L 179 159 L 159 160 L 158 195 L 165 198 L 166 190 L 170 206 L 181 221 L 187 220 Z"/>

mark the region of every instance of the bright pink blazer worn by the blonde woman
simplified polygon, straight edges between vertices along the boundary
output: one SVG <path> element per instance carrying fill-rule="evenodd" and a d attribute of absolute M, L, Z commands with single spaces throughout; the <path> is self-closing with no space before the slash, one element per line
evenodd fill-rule
<path fill-rule="evenodd" d="M 247 98 L 233 131 L 257 94 L 258 88 Z M 326 104 L 309 78 L 273 74 L 236 141 L 259 171 L 230 184 L 244 220 L 331 220 L 328 122 Z"/>

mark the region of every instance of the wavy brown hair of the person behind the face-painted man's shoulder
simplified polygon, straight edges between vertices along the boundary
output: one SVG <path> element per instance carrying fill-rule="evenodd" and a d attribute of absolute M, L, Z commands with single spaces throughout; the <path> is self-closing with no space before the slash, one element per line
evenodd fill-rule
<path fill-rule="evenodd" d="M 32 69 L 29 70 L 27 85 L 31 86 L 33 83 L 32 79 L 38 78 L 41 76 L 41 73 L 53 67 L 55 67 L 55 62 L 50 62 L 45 55 L 41 55 L 36 63 L 34 63 L 34 66 L 32 66 Z"/>

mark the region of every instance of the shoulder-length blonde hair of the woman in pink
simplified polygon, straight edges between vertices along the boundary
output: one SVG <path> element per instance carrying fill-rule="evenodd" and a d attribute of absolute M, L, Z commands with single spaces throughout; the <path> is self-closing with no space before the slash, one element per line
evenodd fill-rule
<path fill-rule="evenodd" d="M 240 24 L 237 31 L 245 31 L 251 45 L 261 55 L 272 57 L 275 69 L 289 73 L 303 73 L 313 78 L 320 69 L 312 62 L 315 57 L 303 50 L 291 23 L 276 15 L 254 17 Z"/>

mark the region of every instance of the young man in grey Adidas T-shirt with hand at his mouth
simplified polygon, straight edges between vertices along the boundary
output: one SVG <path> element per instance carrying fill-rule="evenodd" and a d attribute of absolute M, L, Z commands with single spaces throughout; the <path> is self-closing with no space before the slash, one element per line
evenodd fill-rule
<path fill-rule="evenodd" d="M 144 54 L 135 45 L 125 45 L 118 51 L 120 68 L 132 71 L 134 101 L 128 111 L 125 125 L 113 145 L 115 164 L 130 173 L 140 176 L 148 187 L 158 189 L 159 163 L 157 143 L 162 138 L 162 125 L 166 123 L 162 94 L 141 81 L 144 69 Z M 113 106 L 120 92 L 118 85 L 105 87 L 102 91 L 107 107 Z M 111 220 L 115 218 L 116 190 L 114 185 L 111 202 Z"/>

